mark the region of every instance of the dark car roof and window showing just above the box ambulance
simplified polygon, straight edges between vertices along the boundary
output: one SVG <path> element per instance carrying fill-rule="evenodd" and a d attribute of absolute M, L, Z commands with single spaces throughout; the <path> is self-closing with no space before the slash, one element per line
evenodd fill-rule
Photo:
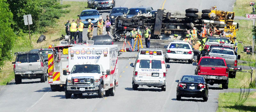
<path fill-rule="evenodd" d="M 93 40 L 94 45 L 112 45 L 113 40 L 109 35 L 93 36 L 90 40 Z"/>

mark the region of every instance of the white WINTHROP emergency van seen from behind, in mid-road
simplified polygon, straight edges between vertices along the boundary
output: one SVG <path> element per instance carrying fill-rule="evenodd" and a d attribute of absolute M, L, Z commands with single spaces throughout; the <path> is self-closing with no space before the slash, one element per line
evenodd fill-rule
<path fill-rule="evenodd" d="M 131 63 L 130 66 L 134 68 L 133 90 L 138 90 L 139 85 L 166 90 L 166 68 L 170 68 L 170 65 L 165 65 L 161 49 L 141 48 L 135 64 Z"/>

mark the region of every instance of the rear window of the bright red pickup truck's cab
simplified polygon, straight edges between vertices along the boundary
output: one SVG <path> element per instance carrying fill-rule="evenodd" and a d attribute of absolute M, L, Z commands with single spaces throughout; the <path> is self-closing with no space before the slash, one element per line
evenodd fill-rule
<path fill-rule="evenodd" d="M 199 65 L 225 66 L 221 59 L 203 58 Z"/>

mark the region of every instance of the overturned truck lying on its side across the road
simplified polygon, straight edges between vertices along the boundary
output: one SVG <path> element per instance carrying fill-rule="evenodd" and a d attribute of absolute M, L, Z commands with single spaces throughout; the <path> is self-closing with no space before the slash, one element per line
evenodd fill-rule
<path fill-rule="evenodd" d="M 238 29 L 236 30 L 235 28 L 235 30 L 227 30 L 229 28 L 227 28 L 227 24 L 230 23 L 228 20 L 232 20 L 233 22 L 234 15 L 231 15 L 232 18 L 230 18 L 228 13 L 222 11 L 224 13 L 218 14 L 219 11 L 214 9 L 203 10 L 202 12 L 203 14 L 198 16 L 198 14 L 196 14 L 198 13 L 198 9 L 189 8 L 186 10 L 186 17 L 184 17 L 184 15 L 182 17 L 182 15 L 178 13 L 172 13 L 161 9 L 158 9 L 156 13 L 138 14 L 132 18 L 127 18 L 124 14 L 116 17 L 115 25 L 113 26 L 115 31 L 113 31 L 112 35 L 116 37 L 116 40 L 120 41 L 125 34 L 129 35 L 128 32 L 133 28 L 140 28 L 143 32 L 145 27 L 148 26 L 151 29 L 152 38 L 169 39 L 170 36 L 174 34 L 184 37 L 187 34 L 187 30 L 192 30 L 193 27 L 196 27 L 197 31 L 200 33 L 205 24 L 207 32 L 209 32 L 210 29 L 214 29 L 214 34 L 223 36 L 224 31 L 232 31 L 232 36 L 235 36 L 235 33 L 233 35 L 233 32 Z M 238 26 L 238 24 L 235 25 Z"/>

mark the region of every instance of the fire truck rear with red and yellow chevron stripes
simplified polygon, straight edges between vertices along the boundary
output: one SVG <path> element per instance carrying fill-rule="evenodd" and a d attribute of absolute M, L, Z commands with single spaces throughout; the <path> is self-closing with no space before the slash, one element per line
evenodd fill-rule
<path fill-rule="evenodd" d="M 68 44 L 67 41 L 60 41 L 59 46 L 52 45 L 52 53 L 48 53 L 48 79 L 52 91 L 64 90 L 68 69 L 68 48 L 76 44 Z"/>

